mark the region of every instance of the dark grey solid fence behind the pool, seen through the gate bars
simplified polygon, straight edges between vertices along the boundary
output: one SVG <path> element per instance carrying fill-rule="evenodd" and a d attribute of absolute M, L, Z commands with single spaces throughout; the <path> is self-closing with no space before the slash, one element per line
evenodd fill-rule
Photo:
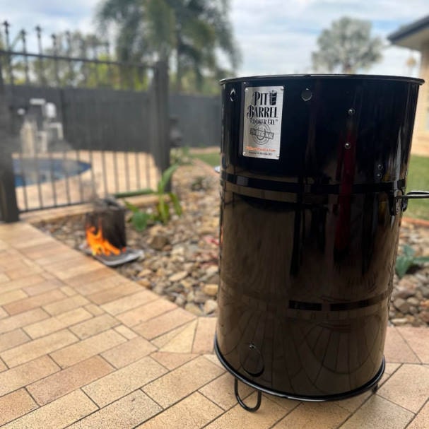
<path fill-rule="evenodd" d="M 151 152 L 151 118 L 144 114 L 150 108 L 146 91 L 28 85 L 6 85 L 5 91 L 6 99 L 15 106 L 16 134 L 24 119 L 18 113 L 28 113 L 29 100 L 44 99 L 58 107 L 56 120 L 61 122 L 64 140 L 74 149 Z"/>

